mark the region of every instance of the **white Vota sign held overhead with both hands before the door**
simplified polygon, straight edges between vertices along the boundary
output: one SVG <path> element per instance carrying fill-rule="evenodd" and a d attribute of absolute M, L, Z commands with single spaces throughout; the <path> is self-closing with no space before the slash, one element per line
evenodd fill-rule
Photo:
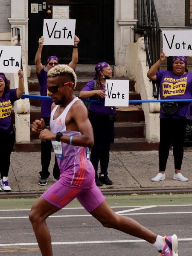
<path fill-rule="evenodd" d="M 44 19 L 44 45 L 74 45 L 76 20 Z"/>

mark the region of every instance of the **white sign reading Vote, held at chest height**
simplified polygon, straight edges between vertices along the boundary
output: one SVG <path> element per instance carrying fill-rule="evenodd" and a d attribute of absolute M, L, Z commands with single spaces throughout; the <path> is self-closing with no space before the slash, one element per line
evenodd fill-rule
<path fill-rule="evenodd" d="M 128 107 L 129 80 L 106 80 L 105 107 Z"/>

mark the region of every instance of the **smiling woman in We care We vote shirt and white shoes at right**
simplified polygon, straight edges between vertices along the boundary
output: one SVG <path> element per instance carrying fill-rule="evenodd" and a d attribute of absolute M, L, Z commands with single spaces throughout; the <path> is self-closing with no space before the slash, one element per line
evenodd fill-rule
<path fill-rule="evenodd" d="M 181 174 L 183 160 L 183 141 L 187 119 L 190 117 L 190 102 L 171 102 L 172 99 L 192 99 L 192 73 L 186 72 L 186 57 L 174 56 L 173 71 L 158 70 L 162 61 L 167 58 L 164 52 L 160 59 L 149 69 L 147 76 L 151 81 L 160 84 L 160 99 L 170 102 L 160 105 L 160 145 L 159 173 L 151 181 L 165 180 L 166 163 L 170 146 L 173 146 L 175 162 L 174 180 L 188 181 Z"/>

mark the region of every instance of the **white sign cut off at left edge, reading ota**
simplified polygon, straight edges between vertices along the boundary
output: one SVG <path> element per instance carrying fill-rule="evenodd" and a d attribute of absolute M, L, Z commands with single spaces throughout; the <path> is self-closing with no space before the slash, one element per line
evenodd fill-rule
<path fill-rule="evenodd" d="M 0 72 L 18 73 L 20 70 L 21 47 L 0 45 Z"/>

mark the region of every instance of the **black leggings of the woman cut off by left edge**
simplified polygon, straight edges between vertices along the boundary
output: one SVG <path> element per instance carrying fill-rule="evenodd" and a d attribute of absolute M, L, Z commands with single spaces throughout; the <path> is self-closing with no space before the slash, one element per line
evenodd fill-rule
<path fill-rule="evenodd" d="M 11 132 L 11 134 L 10 134 Z M 9 166 L 10 166 L 10 155 L 13 150 L 13 145 L 15 142 L 15 131 L 0 131 L 0 177 L 8 177 Z"/>

